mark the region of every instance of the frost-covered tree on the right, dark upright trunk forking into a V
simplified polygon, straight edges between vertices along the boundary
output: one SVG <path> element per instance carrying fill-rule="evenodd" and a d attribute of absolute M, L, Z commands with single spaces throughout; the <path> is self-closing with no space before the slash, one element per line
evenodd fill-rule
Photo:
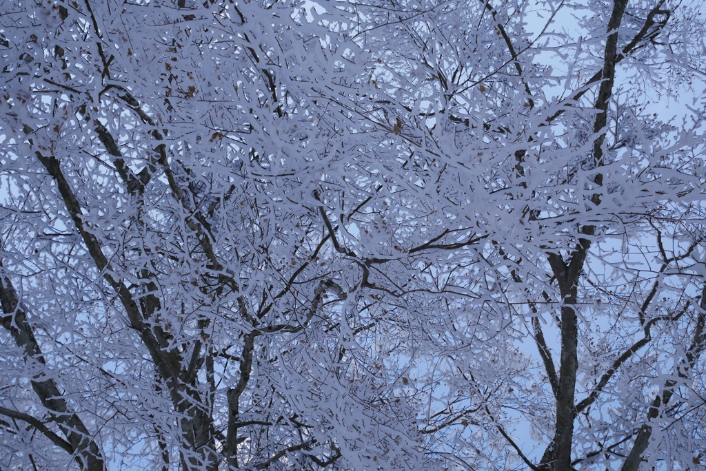
<path fill-rule="evenodd" d="M 532 469 L 628 470 L 644 460 L 686 468 L 703 453 L 694 428 L 706 307 L 703 104 L 692 118 L 663 122 L 647 100 L 700 82 L 686 71 L 702 75 L 697 54 L 688 56 L 702 36 L 676 39 L 696 13 L 664 1 L 600 3 L 572 37 L 556 34 L 558 18 L 585 6 L 546 4 L 539 34 L 525 27 L 533 6 L 499 8 L 481 1 L 400 20 L 400 47 L 390 49 L 404 52 L 388 54 L 424 82 L 400 85 L 389 101 L 409 111 L 407 121 L 426 120 L 419 141 L 436 154 L 436 171 L 425 182 L 447 200 L 438 207 L 489 236 L 465 265 L 450 264 L 464 269 L 445 283 L 471 289 L 484 312 L 477 319 L 503 319 L 522 350 L 532 338 L 542 367 L 522 372 L 529 365 L 493 352 L 505 364 L 488 375 L 484 357 L 454 349 L 448 374 L 457 367 L 476 396 L 461 424 L 494 427 L 488 443 L 507 446 L 469 450 L 480 433 L 459 431 L 448 443 L 462 445 L 449 453 L 469 468 L 508 452 Z M 513 419 L 544 447 L 513 439 Z"/>

